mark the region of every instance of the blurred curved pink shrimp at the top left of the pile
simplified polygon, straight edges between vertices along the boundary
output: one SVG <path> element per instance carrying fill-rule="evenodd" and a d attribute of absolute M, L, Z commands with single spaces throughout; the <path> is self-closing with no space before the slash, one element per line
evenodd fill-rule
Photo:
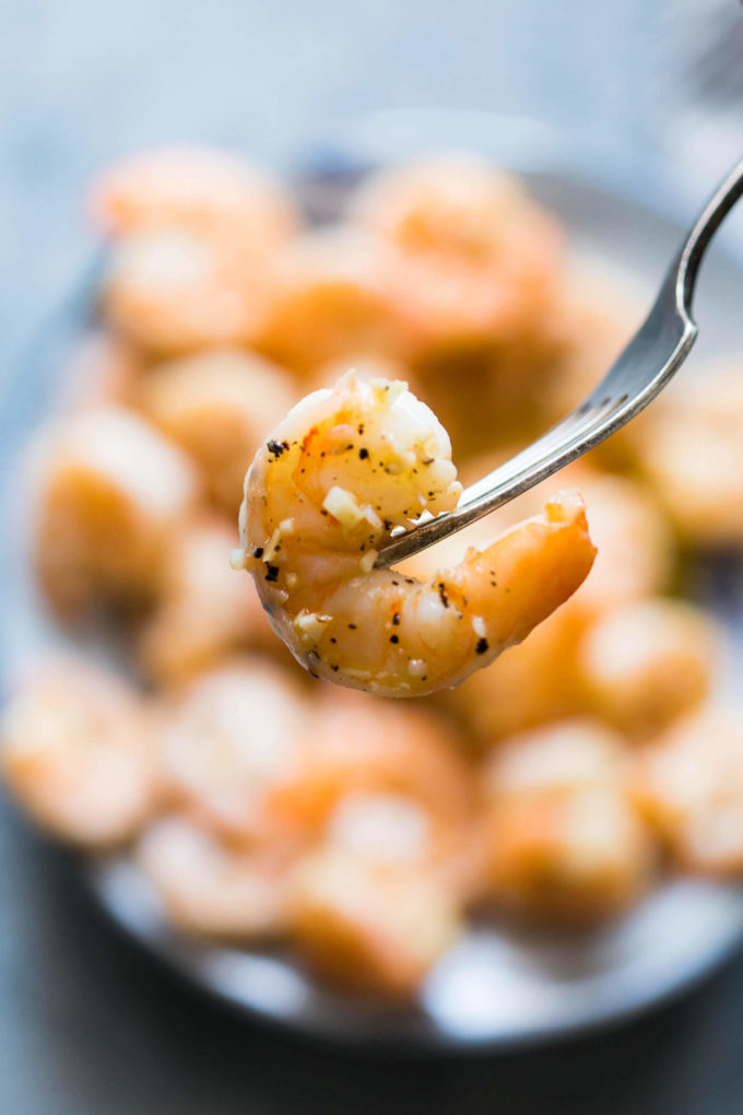
<path fill-rule="evenodd" d="M 185 227 L 244 246 L 272 245 L 299 221 L 289 192 L 236 154 L 209 147 L 141 152 L 105 171 L 89 206 L 104 231 Z"/>

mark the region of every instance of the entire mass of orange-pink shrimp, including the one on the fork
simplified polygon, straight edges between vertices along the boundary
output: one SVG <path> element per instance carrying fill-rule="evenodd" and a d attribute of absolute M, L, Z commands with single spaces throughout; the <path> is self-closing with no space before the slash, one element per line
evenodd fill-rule
<path fill-rule="evenodd" d="M 89 212 L 98 321 L 23 498 L 50 615 L 78 648 L 104 619 L 128 668 L 19 665 L 21 809 L 128 850 L 177 932 L 403 1000 L 473 915 L 581 930 L 669 872 L 743 876 L 730 649 L 684 595 L 743 547 L 743 357 L 375 569 L 593 386 L 630 282 L 466 155 L 316 229 L 238 155 L 153 151 Z"/>

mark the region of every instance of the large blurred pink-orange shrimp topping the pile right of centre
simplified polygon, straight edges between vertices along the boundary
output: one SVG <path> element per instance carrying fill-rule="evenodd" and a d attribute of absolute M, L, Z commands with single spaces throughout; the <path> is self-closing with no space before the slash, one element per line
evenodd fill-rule
<path fill-rule="evenodd" d="M 370 176 L 349 212 L 391 249 L 388 283 L 410 351 L 539 330 L 564 235 L 517 178 L 443 155 Z"/>

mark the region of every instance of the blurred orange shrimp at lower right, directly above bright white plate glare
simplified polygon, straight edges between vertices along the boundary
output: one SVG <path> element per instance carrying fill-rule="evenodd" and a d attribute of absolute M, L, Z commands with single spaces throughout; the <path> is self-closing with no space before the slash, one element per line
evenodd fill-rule
<path fill-rule="evenodd" d="M 486 770 L 486 893 L 537 920 L 616 915 L 649 882 L 622 737 L 567 720 L 514 736 Z"/>

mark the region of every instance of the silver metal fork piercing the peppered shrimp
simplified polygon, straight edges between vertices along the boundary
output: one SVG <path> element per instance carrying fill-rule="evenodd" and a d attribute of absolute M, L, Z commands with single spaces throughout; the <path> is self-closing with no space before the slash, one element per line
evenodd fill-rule
<path fill-rule="evenodd" d="M 651 312 L 590 395 L 563 421 L 462 493 L 439 515 L 380 550 L 385 568 L 434 545 L 527 492 L 609 437 L 639 414 L 682 366 L 698 332 L 692 297 L 712 236 L 743 194 L 743 161 L 720 184 L 684 239 Z"/>

